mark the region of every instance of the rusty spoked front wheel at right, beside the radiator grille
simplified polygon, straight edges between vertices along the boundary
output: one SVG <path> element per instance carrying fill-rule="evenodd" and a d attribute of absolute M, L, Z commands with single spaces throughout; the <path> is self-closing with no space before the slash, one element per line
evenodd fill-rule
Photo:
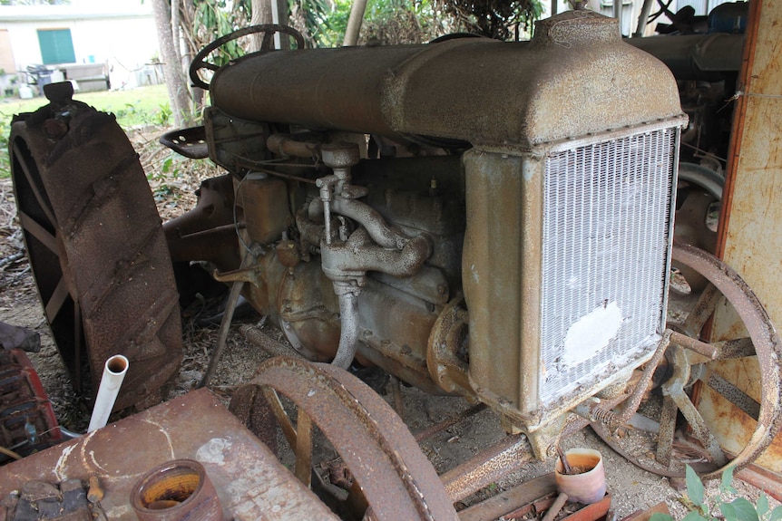
<path fill-rule="evenodd" d="M 700 475 L 717 477 L 728 466 L 742 468 L 753 462 L 767 449 L 782 426 L 782 376 L 779 371 L 782 343 L 758 298 L 735 271 L 692 246 L 674 246 L 673 260 L 703 275 L 709 285 L 702 294 L 689 299 L 691 308 L 685 320 L 671 324 L 675 333 L 666 352 L 667 363 L 658 368 L 662 380 L 661 404 L 657 409 L 647 408 L 652 411 L 648 416 L 653 418 L 636 414 L 631 424 L 638 429 L 629 427 L 624 439 L 618 436 L 618 431 L 624 428 L 612 432 L 603 423 L 593 423 L 592 427 L 613 449 L 640 468 L 679 477 L 684 475 L 684 463 L 689 463 Z M 738 314 L 748 336 L 738 335 L 718 343 L 701 342 L 710 318 L 718 308 L 727 306 L 726 303 Z M 709 352 L 710 356 L 702 354 Z M 757 368 L 759 396 L 749 396 L 739 389 L 738 385 L 746 382 L 731 382 L 720 374 L 721 363 L 738 360 Z M 731 429 L 727 437 L 722 436 L 716 423 L 718 419 L 696 407 L 699 394 L 707 392 L 728 400 L 741 415 L 742 423 L 754 424 L 738 446 L 734 443 L 731 449 L 723 451 L 721 444 L 727 445 L 729 438 L 735 438 L 737 433 Z M 630 449 L 642 443 L 638 438 L 646 436 L 640 429 L 653 430 L 655 425 L 658 427 L 653 454 Z M 682 429 L 689 430 L 688 435 L 675 436 L 677 429 L 683 427 L 688 428 Z"/>

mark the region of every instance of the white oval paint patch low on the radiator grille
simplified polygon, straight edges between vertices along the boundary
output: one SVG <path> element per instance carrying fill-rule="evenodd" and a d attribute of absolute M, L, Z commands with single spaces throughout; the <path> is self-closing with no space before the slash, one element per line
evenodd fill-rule
<path fill-rule="evenodd" d="M 562 364 L 573 366 L 586 362 L 616 338 L 620 328 L 621 309 L 615 302 L 583 315 L 568 329 Z"/>

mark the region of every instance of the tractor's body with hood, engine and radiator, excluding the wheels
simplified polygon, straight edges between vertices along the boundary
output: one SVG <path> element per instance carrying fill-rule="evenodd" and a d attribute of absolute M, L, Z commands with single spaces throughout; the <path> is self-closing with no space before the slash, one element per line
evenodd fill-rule
<path fill-rule="evenodd" d="M 488 404 L 544 456 L 666 323 L 679 136 L 658 60 L 588 11 L 531 42 L 254 53 L 215 72 L 174 261 L 294 349 Z"/>

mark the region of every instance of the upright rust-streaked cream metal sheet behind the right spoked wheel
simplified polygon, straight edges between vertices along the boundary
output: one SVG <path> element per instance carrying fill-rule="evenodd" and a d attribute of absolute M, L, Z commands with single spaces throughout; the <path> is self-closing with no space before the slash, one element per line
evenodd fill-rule
<path fill-rule="evenodd" d="M 750 10 L 718 252 L 753 288 L 778 325 L 782 323 L 782 293 L 778 291 L 782 285 L 782 206 L 777 201 L 782 192 L 782 53 L 777 27 L 782 24 L 782 5 L 758 1 Z M 732 336 L 735 322 L 730 314 L 718 312 L 715 339 Z M 776 370 L 779 378 L 779 361 L 773 365 L 769 370 Z M 713 369 L 754 400 L 760 399 L 755 388 L 760 381 L 757 364 L 727 361 Z M 699 410 L 716 422 L 716 434 L 726 447 L 748 439 L 755 429 L 755 420 L 716 393 L 704 393 Z M 777 436 L 757 463 L 782 471 L 782 438 Z"/>

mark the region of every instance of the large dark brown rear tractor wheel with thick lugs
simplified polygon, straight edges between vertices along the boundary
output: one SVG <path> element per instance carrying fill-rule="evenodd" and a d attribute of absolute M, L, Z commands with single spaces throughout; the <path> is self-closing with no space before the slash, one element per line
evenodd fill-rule
<path fill-rule="evenodd" d="M 181 326 L 161 219 L 132 145 L 113 116 L 67 95 L 16 117 L 9 148 L 30 265 L 74 388 L 94 393 L 103 363 L 124 354 L 115 408 L 151 405 L 181 362 Z"/>

